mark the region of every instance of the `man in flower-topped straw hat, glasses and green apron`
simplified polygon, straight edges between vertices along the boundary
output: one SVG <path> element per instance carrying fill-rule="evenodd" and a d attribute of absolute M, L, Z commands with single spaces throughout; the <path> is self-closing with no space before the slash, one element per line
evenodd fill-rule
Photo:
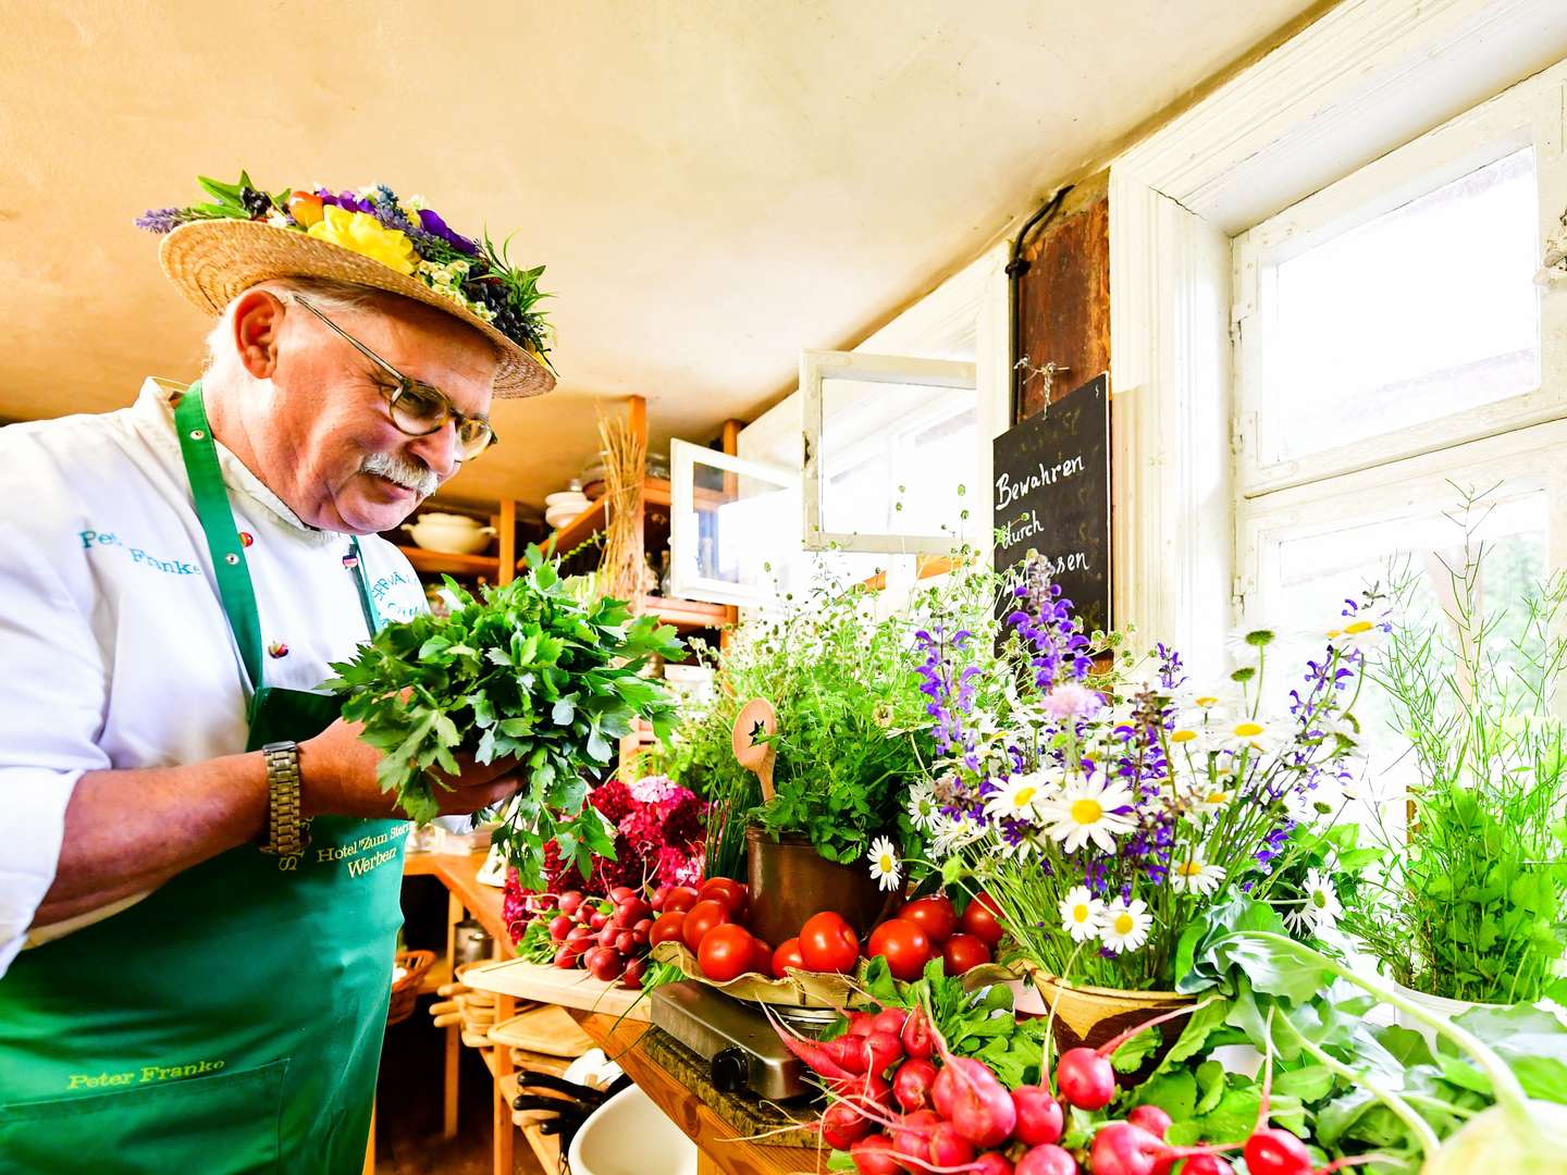
<path fill-rule="evenodd" d="M 418 204 L 204 185 L 147 219 L 202 379 L 0 431 L 5 1170 L 360 1169 L 409 826 L 312 691 L 423 608 L 376 533 L 553 384 L 536 271 Z"/>

